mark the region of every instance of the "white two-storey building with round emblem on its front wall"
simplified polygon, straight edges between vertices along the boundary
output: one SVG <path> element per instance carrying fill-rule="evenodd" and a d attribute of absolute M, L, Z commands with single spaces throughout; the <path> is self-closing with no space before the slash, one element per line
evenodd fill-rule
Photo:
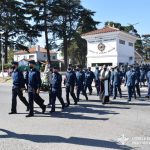
<path fill-rule="evenodd" d="M 106 26 L 102 29 L 83 34 L 87 41 L 87 66 L 95 67 L 107 64 L 133 64 L 134 44 L 138 39 L 117 28 Z"/>

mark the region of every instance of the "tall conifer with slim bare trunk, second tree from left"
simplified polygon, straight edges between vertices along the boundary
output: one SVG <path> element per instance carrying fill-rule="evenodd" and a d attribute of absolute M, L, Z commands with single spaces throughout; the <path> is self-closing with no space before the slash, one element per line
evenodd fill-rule
<path fill-rule="evenodd" d="M 32 22 L 33 28 L 40 34 L 45 34 L 45 48 L 47 50 L 47 61 L 49 64 L 50 60 L 50 48 L 53 40 L 50 39 L 50 33 L 52 33 L 53 27 L 53 16 L 52 16 L 52 0 L 24 0 L 24 6 L 28 10 L 28 15 L 32 16 L 34 22 Z"/>

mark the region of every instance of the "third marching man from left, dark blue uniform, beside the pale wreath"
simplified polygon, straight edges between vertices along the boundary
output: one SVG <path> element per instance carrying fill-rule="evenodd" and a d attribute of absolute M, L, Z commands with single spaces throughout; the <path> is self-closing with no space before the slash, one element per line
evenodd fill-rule
<path fill-rule="evenodd" d="M 52 107 L 51 107 L 50 113 L 53 113 L 53 112 L 55 112 L 56 97 L 60 101 L 60 103 L 62 105 L 62 109 L 65 108 L 65 103 L 64 103 L 64 100 L 62 98 L 62 87 L 61 87 L 62 76 L 59 74 L 57 67 L 53 68 L 53 74 L 52 74 L 52 80 L 51 81 L 52 81 L 51 82 L 51 85 L 52 85 L 52 93 L 51 93 Z"/>

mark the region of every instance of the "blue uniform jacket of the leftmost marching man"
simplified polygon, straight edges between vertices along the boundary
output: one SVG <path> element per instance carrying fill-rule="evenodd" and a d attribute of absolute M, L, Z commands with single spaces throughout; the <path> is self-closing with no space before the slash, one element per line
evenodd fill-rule
<path fill-rule="evenodd" d="M 24 78 L 23 73 L 18 69 L 14 70 L 12 73 L 13 88 L 24 88 Z"/>

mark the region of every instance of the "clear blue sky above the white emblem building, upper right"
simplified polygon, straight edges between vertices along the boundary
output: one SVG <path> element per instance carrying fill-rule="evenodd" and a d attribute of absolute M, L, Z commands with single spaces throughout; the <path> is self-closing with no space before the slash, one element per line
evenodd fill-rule
<path fill-rule="evenodd" d="M 102 22 L 136 24 L 139 34 L 150 34 L 150 0 L 81 0 L 85 8 L 95 11 L 94 19 Z"/>

